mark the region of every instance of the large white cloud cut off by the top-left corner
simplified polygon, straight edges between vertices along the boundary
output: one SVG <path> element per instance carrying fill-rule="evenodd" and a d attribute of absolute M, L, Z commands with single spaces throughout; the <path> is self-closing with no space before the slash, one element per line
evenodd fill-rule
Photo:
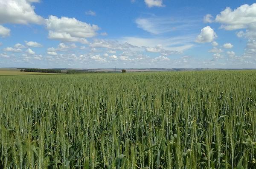
<path fill-rule="evenodd" d="M 0 23 L 44 23 L 44 19 L 35 14 L 32 2 L 38 0 L 0 0 Z"/>

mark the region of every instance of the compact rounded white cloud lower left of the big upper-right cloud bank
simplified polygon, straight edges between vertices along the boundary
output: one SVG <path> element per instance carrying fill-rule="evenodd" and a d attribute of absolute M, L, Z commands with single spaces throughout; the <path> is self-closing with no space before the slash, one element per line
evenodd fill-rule
<path fill-rule="evenodd" d="M 216 37 L 217 37 L 217 34 L 214 32 L 214 30 L 210 26 L 206 26 L 203 29 L 201 29 L 201 33 L 195 39 L 195 42 L 198 42 L 198 43 L 212 42 Z"/>

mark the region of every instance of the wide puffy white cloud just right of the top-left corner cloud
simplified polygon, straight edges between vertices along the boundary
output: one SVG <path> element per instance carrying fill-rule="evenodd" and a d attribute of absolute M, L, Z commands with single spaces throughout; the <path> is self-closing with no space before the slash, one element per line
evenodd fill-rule
<path fill-rule="evenodd" d="M 80 42 L 88 44 L 85 38 L 96 36 L 97 25 L 76 20 L 76 18 L 50 16 L 46 19 L 48 38 L 66 42 Z"/>

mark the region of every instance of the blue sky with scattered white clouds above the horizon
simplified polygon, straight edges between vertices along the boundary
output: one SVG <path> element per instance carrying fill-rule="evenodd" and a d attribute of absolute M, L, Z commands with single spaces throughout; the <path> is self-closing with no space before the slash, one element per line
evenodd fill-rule
<path fill-rule="evenodd" d="M 0 0 L 0 67 L 256 68 L 253 0 Z"/>

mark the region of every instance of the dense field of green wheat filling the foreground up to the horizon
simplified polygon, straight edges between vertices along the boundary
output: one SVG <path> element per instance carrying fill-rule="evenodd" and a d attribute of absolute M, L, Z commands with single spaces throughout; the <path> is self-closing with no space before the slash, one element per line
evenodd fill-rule
<path fill-rule="evenodd" d="M 256 71 L 0 76 L 2 169 L 256 168 Z"/>

